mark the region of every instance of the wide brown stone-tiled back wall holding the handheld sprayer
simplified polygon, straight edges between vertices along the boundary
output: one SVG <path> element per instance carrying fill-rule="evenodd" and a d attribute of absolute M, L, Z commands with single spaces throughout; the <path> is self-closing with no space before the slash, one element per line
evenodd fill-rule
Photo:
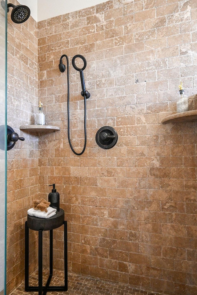
<path fill-rule="evenodd" d="M 39 138 L 40 192 L 56 183 L 69 270 L 169 294 L 196 294 L 196 124 L 161 124 L 183 81 L 196 108 L 195 1 L 110 0 L 38 23 L 38 97 L 61 131 Z M 86 57 L 87 148 L 67 140 L 62 54 Z M 66 63 L 66 59 L 64 58 Z M 83 98 L 70 63 L 71 138 L 83 148 Z M 95 142 L 118 132 L 109 150 Z M 56 267 L 63 267 L 57 231 Z M 47 253 L 47 247 L 46 247 Z"/>

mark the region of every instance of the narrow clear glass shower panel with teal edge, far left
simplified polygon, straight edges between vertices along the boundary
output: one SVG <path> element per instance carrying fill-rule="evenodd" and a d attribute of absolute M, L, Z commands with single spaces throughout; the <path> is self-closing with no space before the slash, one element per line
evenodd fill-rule
<path fill-rule="evenodd" d="M 7 13 L 0 5 L 0 295 L 6 294 L 6 36 Z"/>

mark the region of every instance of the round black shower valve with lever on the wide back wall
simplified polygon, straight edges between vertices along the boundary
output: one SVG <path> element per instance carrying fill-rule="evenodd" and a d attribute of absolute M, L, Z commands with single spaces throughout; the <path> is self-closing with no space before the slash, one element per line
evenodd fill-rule
<path fill-rule="evenodd" d="M 118 133 L 113 127 L 104 126 L 96 132 L 96 143 L 100 148 L 113 148 L 118 141 Z"/>

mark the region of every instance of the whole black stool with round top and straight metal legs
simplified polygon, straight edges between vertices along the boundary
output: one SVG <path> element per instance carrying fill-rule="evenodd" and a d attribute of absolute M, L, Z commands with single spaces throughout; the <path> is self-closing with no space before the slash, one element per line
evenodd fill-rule
<path fill-rule="evenodd" d="M 64 286 L 50 286 L 53 276 L 53 230 L 64 225 Z M 38 287 L 29 286 L 29 229 L 38 230 Z M 42 232 L 50 230 L 50 271 L 45 286 L 42 286 Z M 64 221 L 64 210 L 60 209 L 48 219 L 27 215 L 25 222 L 25 291 L 38 291 L 38 295 L 46 295 L 47 291 L 68 290 L 67 265 L 67 221 Z M 43 293 L 42 293 L 43 292 Z"/>

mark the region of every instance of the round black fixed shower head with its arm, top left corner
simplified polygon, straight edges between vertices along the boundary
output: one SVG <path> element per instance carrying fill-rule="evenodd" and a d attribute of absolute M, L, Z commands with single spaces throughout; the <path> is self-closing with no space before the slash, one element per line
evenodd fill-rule
<path fill-rule="evenodd" d="M 5 1 L 1 1 L 1 6 L 5 10 L 6 4 Z M 16 24 L 21 24 L 25 22 L 30 17 L 30 9 L 26 5 L 14 5 L 12 3 L 7 4 L 7 12 L 10 11 L 10 7 L 13 8 L 11 12 L 11 20 Z"/>

